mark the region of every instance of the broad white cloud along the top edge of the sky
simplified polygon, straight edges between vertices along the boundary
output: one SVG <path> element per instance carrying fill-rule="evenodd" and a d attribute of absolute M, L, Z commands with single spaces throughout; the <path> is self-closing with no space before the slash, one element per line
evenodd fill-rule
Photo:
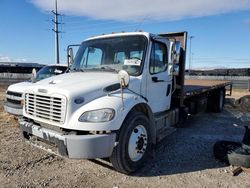
<path fill-rule="evenodd" d="M 29 0 L 53 10 L 54 0 Z M 249 10 L 250 0 L 58 0 L 61 13 L 117 21 L 180 20 Z"/>

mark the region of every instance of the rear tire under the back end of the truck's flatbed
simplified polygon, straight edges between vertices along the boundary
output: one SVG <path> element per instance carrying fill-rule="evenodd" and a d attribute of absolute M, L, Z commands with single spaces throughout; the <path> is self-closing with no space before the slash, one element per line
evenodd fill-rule
<path fill-rule="evenodd" d="M 208 110 L 222 112 L 225 103 L 225 89 L 216 90 L 208 99 Z"/>

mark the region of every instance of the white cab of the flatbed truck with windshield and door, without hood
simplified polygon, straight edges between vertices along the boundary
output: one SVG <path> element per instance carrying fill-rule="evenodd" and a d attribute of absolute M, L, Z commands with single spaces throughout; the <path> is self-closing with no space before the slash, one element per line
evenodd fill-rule
<path fill-rule="evenodd" d="M 161 112 L 170 107 L 171 45 L 166 38 L 146 33 L 93 38 L 80 47 L 71 71 L 125 70 L 131 79 L 128 88 L 147 99 L 153 112 Z"/>

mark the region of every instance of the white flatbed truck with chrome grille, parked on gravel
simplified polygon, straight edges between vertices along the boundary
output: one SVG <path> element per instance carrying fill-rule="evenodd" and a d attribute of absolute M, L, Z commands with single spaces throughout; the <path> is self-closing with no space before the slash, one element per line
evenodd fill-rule
<path fill-rule="evenodd" d="M 129 32 L 85 40 L 69 73 L 25 91 L 22 135 L 61 156 L 136 171 L 188 115 L 223 109 L 229 82 L 184 80 L 186 39 Z"/>

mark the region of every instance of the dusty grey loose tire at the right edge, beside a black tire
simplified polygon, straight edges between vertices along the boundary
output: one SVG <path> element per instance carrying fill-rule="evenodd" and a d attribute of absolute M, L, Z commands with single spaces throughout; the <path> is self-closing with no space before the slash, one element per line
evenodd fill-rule
<path fill-rule="evenodd" d="M 250 149 L 240 147 L 227 156 L 229 164 L 250 168 Z"/>

